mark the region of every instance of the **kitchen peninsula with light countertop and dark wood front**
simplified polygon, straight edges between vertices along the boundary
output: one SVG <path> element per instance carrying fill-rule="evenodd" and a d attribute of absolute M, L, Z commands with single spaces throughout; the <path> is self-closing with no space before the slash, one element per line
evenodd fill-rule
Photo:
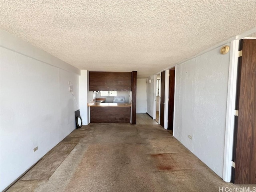
<path fill-rule="evenodd" d="M 130 123 L 130 103 L 100 103 L 90 102 L 91 123 Z"/>

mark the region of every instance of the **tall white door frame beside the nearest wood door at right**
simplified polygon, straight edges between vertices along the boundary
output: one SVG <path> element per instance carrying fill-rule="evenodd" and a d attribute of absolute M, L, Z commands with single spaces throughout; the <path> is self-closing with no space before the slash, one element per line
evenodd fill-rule
<path fill-rule="evenodd" d="M 236 104 L 236 80 L 238 66 L 238 48 L 239 40 L 234 40 L 230 43 L 230 64 L 228 75 L 228 98 L 226 112 L 226 130 L 225 130 L 225 145 L 224 145 L 224 163 L 223 163 L 223 180 L 230 182 L 233 138 L 234 138 L 234 110 Z"/>

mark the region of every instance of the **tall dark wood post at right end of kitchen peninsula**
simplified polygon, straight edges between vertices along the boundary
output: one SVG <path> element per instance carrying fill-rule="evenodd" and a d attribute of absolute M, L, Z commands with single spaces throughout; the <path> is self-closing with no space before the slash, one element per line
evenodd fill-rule
<path fill-rule="evenodd" d="M 132 124 L 136 124 L 137 72 L 132 72 Z"/>

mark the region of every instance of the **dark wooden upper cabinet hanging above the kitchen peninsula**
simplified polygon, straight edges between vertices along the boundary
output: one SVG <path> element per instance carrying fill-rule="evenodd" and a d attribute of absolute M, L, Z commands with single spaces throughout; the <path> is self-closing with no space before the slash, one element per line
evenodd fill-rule
<path fill-rule="evenodd" d="M 89 91 L 131 91 L 132 72 L 89 72 Z"/>

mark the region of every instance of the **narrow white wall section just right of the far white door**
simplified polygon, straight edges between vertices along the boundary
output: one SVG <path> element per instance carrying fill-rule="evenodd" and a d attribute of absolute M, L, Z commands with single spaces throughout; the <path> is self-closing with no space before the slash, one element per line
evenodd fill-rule
<path fill-rule="evenodd" d="M 151 83 L 149 82 L 151 80 Z M 152 82 L 153 80 L 153 82 Z M 154 116 L 154 75 L 148 77 L 148 90 L 147 90 L 147 113 Z"/>

